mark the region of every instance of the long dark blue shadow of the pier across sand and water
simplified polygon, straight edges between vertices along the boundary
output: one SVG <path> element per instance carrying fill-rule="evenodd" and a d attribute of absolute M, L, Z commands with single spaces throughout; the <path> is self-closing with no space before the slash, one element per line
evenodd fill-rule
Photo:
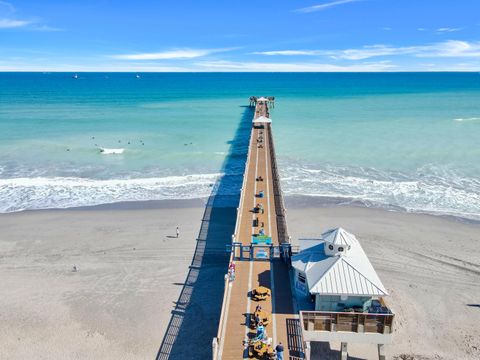
<path fill-rule="evenodd" d="M 217 335 L 222 307 L 224 276 L 235 231 L 240 188 L 248 154 L 254 108 L 244 107 L 230 151 L 212 189 L 190 269 L 176 302 L 156 359 L 212 358 L 212 340 Z M 237 195 L 230 195 L 232 188 Z"/>

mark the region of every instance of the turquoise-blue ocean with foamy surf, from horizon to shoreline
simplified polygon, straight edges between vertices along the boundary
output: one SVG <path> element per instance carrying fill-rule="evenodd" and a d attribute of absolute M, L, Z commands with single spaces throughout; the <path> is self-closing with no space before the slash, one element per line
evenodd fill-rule
<path fill-rule="evenodd" d="M 0 73 L 0 211 L 208 196 L 273 95 L 287 195 L 480 219 L 478 73 L 140 75 Z"/>

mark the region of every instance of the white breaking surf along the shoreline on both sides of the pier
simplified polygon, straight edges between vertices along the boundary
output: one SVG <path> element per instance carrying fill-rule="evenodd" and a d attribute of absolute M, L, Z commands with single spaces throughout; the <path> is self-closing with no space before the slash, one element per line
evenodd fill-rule
<path fill-rule="evenodd" d="M 285 195 L 345 198 L 367 206 L 480 220 L 480 179 L 435 166 L 412 173 L 333 165 L 279 164 Z M 230 173 L 230 171 L 229 171 Z M 218 181 L 223 179 L 222 181 Z M 0 179 L 0 212 L 67 208 L 121 201 L 238 195 L 242 174 L 94 180 L 77 177 Z M 236 205 L 236 204 L 234 204 Z"/>

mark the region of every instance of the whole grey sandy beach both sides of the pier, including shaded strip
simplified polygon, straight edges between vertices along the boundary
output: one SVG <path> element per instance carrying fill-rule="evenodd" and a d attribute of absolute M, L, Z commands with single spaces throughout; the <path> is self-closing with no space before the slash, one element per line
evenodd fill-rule
<path fill-rule="evenodd" d="M 208 358 L 235 209 L 205 216 L 204 203 L 0 215 L 0 358 L 154 359 L 159 348 L 160 359 Z M 340 225 L 357 235 L 396 312 L 388 358 L 480 357 L 480 225 L 301 199 L 287 208 L 294 239 Z M 197 238 L 207 256 L 189 269 Z M 180 337 L 169 345 L 172 325 Z M 338 345 L 313 351 L 336 359 Z M 349 353 L 373 359 L 376 347 L 350 344 Z"/>

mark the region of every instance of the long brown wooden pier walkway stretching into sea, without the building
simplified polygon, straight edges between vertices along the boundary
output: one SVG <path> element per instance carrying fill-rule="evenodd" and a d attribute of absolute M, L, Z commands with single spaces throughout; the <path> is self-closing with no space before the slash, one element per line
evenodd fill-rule
<path fill-rule="evenodd" d="M 213 340 L 214 359 L 241 359 L 253 355 L 248 347 L 255 336 L 251 324 L 257 305 L 271 314 L 265 327 L 273 348 L 280 342 L 284 359 L 302 358 L 302 338 L 289 275 L 290 239 L 280 189 L 269 114 L 270 99 L 256 99 L 255 115 L 245 174 L 232 235 L 233 276 L 225 278 L 225 292 L 217 337 Z M 262 194 L 261 194 L 262 193 Z M 252 245 L 256 236 L 271 237 L 271 244 Z M 227 269 L 226 269 L 227 270 Z M 271 291 L 266 300 L 252 299 L 254 288 Z"/>

